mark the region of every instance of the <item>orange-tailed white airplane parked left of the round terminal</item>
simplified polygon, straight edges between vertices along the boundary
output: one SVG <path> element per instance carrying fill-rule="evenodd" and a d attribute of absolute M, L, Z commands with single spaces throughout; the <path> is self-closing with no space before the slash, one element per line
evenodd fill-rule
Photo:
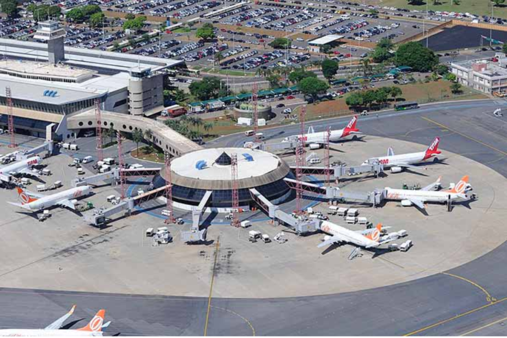
<path fill-rule="evenodd" d="M 26 210 L 39 211 L 55 205 L 76 210 L 76 206 L 71 200 L 90 195 L 93 188 L 89 185 L 77 186 L 48 196 L 35 194 L 27 190 L 23 190 L 20 187 L 17 187 L 17 190 L 21 203 L 7 203 Z"/>

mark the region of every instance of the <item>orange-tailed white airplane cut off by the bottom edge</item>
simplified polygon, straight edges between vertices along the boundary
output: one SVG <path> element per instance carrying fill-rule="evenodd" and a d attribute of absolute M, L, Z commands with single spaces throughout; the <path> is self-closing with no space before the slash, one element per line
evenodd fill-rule
<path fill-rule="evenodd" d="M 43 329 L 2 329 L 0 337 L 17 336 L 17 337 L 33 337 L 33 336 L 101 336 L 102 329 L 106 328 L 111 322 L 104 322 L 105 310 L 99 310 L 93 319 L 84 327 L 78 329 L 60 330 L 63 322 L 70 317 L 76 306 L 74 305 L 69 312 L 55 320 Z"/>

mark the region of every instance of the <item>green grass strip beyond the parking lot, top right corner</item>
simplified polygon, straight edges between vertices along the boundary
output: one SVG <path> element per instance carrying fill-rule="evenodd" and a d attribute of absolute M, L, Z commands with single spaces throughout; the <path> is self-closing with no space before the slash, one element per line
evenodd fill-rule
<path fill-rule="evenodd" d="M 432 0 L 428 1 L 428 9 L 432 11 L 441 11 L 441 12 L 458 12 L 458 13 L 472 13 L 477 15 L 487 15 L 491 16 L 491 5 L 488 0 L 461 0 L 459 5 L 452 5 L 451 0 L 440 0 L 441 5 L 433 5 Z M 352 2 L 363 4 L 363 0 L 352 0 Z M 413 6 L 409 5 L 407 0 L 371 0 L 367 2 L 372 5 L 379 6 L 389 6 L 396 8 L 408 8 L 411 10 L 425 11 L 426 3 L 423 2 L 423 5 Z M 495 7 L 493 9 L 494 17 L 507 17 L 507 6 L 504 7 Z"/>

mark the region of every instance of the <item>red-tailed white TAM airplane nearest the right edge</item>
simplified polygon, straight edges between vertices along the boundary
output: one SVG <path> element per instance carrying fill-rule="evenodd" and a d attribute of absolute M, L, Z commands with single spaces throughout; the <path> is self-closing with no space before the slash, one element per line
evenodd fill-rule
<path fill-rule="evenodd" d="M 394 151 L 392 148 L 387 150 L 387 156 L 384 157 L 374 157 L 366 160 L 363 164 L 368 164 L 372 160 L 378 160 L 379 163 L 383 164 L 384 167 L 391 168 L 391 172 L 401 172 L 403 168 L 416 168 L 413 164 L 424 162 L 434 156 L 441 154 L 439 151 L 439 143 L 440 138 L 435 137 L 433 142 L 428 146 L 426 151 L 418 152 L 418 153 L 409 153 L 409 154 L 401 154 L 394 155 Z"/>

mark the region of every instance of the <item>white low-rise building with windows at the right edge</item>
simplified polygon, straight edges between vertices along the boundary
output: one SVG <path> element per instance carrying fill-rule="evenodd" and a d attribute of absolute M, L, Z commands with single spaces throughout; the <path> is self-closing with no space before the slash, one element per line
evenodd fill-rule
<path fill-rule="evenodd" d="M 498 56 L 496 62 L 491 58 L 452 62 L 451 72 L 463 86 L 487 94 L 507 92 L 507 58 L 504 54 Z"/>

